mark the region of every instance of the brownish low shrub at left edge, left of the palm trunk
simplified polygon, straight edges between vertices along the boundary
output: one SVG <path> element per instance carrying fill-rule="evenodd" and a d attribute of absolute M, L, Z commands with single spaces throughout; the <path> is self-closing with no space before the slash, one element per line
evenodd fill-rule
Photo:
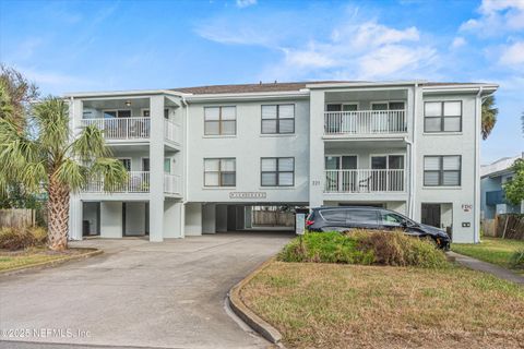
<path fill-rule="evenodd" d="M 0 249 L 21 250 L 41 245 L 47 241 L 47 231 L 41 227 L 0 229 Z"/>

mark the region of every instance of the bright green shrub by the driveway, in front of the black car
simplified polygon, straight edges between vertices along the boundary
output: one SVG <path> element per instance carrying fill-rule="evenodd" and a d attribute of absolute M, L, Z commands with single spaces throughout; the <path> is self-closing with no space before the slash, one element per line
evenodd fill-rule
<path fill-rule="evenodd" d="M 278 254 L 284 262 L 371 264 L 372 251 L 357 249 L 357 241 L 348 236 L 333 232 L 308 232 L 294 239 Z"/>

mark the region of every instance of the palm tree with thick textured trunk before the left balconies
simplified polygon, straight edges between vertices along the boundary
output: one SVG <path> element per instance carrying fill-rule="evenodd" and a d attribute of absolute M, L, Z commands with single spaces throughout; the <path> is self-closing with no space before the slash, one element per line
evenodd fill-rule
<path fill-rule="evenodd" d="M 28 117 L 31 130 L 20 130 L 10 118 L 0 118 L 0 184 L 47 191 L 48 240 L 55 251 L 68 248 L 70 193 L 93 178 L 102 178 L 107 191 L 128 178 L 122 164 L 110 157 L 99 129 L 86 127 L 72 140 L 68 109 L 64 100 L 46 98 Z"/>

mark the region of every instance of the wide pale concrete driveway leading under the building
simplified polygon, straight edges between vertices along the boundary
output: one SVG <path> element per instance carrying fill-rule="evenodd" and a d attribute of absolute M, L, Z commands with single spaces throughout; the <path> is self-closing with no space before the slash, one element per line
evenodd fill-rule
<path fill-rule="evenodd" d="M 242 329 L 227 314 L 225 298 L 236 282 L 291 237 L 243 232 L 162 243 L 139 239 L 72 243 L 102 248 L 105 253 L 0 277 L 0 328 L 29 329 L 28 337 L 16 339 L 38 342 L 267 347 L 264 339 Z M 12 348 L 14 344 L 0 341 L 0 346 Z"/>

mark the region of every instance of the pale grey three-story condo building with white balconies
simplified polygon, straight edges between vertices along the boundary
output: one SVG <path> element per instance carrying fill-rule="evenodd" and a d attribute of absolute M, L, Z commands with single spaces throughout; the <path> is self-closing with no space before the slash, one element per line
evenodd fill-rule
<path fill-rule="evenodd" d="M 260 205 L 374 205 L 479 239 L 481 98 L 492 84 L 311 82 L 74 93 L 130 170 L 71 197 L 71 239 L 251 226 Z M 382 219 L 369 217 L 369 219 Z"/>

